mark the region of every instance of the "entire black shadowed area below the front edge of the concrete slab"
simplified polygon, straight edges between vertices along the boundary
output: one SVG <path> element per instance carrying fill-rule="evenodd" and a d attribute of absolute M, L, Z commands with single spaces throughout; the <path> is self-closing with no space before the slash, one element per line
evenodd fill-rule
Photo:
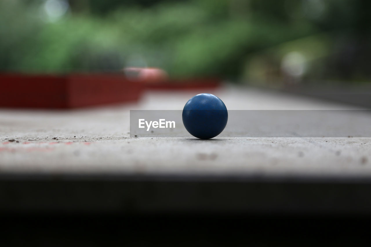
<path fill-rule="evenodd" d="M 356 178 L 3 175 L 1 246 L 361 246 Z"/>

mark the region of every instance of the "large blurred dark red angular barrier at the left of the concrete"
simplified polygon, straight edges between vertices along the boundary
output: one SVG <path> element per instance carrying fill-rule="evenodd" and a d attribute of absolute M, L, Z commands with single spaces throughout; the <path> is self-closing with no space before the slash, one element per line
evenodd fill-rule
<path fill-rule="evenodd" d="M 79 108 L 137 101 L 143 83 L 122 74 L 0 74 L 0 107 Z"/>

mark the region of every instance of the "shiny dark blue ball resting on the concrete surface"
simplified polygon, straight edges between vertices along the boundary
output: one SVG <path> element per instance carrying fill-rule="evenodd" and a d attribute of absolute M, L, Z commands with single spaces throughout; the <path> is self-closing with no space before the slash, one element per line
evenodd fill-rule
<path fill-rule="evenodd" d="M 194 137 L 210 139 L 219 135 L 227 125 L 226 105 L 217 96 L 200 93 L 193 96 L 183 108 L 183 124 Z"/>

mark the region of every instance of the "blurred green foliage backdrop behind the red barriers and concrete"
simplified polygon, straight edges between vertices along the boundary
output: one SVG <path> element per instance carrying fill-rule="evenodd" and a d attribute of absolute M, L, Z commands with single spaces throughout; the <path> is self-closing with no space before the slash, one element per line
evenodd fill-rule
<path fill-rule="evenodd" d="M 370 82 L 370 1 L 1 0 L 0 71 Z"/>

